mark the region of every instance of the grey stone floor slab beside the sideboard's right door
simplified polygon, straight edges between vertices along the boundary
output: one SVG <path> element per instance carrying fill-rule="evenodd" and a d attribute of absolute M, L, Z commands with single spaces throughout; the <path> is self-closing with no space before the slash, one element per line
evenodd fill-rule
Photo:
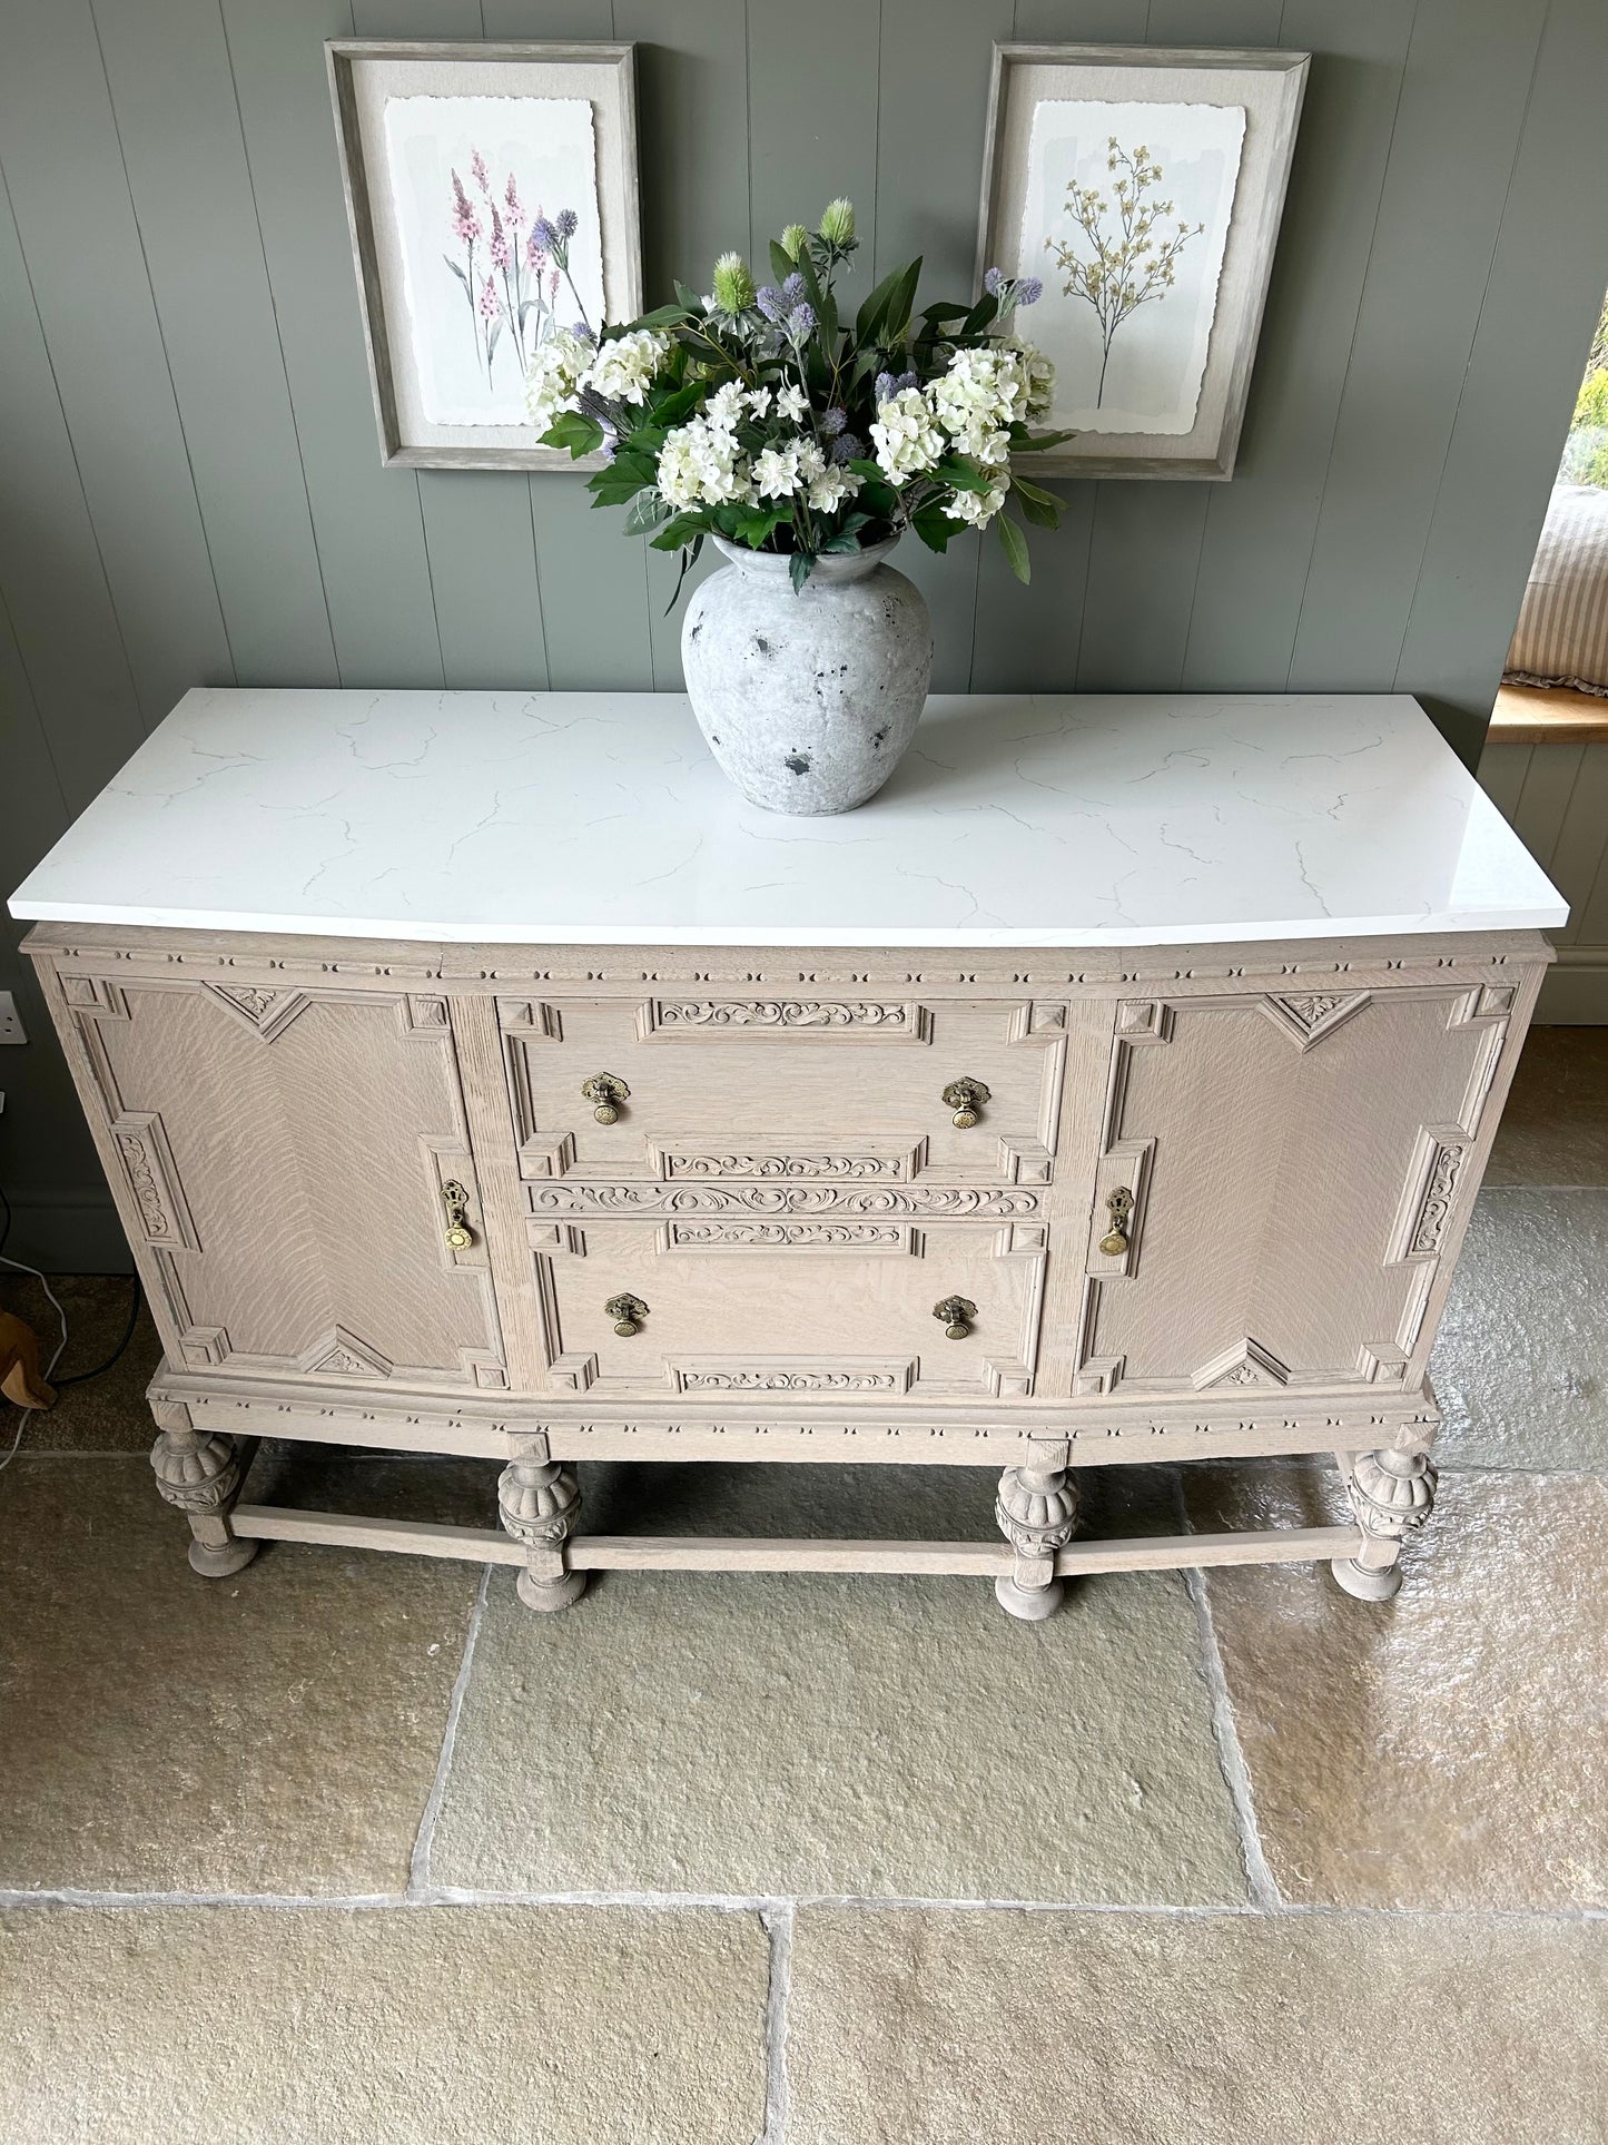
<path fill-rule="evenodd" d="M 1479 1195 L 1430 1377 L 1443 1461 L 1608 1471 L 1608 1190 Z"/>

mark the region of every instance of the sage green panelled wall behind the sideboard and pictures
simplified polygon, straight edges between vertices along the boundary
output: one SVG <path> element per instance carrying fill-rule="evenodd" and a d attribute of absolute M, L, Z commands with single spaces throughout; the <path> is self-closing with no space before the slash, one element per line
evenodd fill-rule
<path fill-rule="evenodd" d="M 1239 472 L 900 560 L 941 689 L 1424 695 L 1473 757 L 1608 283 L 1604 0 L 0 0 L 0 877 L 197 682 L 680 684 L 575 476 L 382 470 L 326 36 L 635 39 L 647 290 L 853 195 L 965 287 L 995 39 L 1314 54 Z M 1321 740 L 1314 738 L 1321 749 Z M 13 1251 L 118 1263 L 43 1006 Z"/>

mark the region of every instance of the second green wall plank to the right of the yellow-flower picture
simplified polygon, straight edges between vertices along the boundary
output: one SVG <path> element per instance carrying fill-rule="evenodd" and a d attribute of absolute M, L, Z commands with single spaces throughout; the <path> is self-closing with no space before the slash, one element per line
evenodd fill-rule
<path fill-rule="evenodd" d="M 1419 0 L 1293 691 L 1396 676 L 1544 19 L 1546 0 Z"/>

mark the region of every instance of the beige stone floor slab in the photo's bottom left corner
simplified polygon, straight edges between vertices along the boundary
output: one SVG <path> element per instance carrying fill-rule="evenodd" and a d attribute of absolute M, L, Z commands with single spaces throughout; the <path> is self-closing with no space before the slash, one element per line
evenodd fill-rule
<path fill-rule="evenodd" d="M 750 2145 L 768 1939 L 630 1909 L 13 1909 L 0 2145 Z"/>

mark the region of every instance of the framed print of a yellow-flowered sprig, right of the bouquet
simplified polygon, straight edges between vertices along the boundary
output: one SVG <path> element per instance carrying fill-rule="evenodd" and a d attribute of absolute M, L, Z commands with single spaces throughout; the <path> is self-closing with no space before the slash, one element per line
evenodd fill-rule
<path fill-rule="evenodd" d="M 1021 465 L 1229 478 L 1250 395 L 1310 54 L 995 45 L 978 279 L 1040 277 L 1055 360 Z"/>

